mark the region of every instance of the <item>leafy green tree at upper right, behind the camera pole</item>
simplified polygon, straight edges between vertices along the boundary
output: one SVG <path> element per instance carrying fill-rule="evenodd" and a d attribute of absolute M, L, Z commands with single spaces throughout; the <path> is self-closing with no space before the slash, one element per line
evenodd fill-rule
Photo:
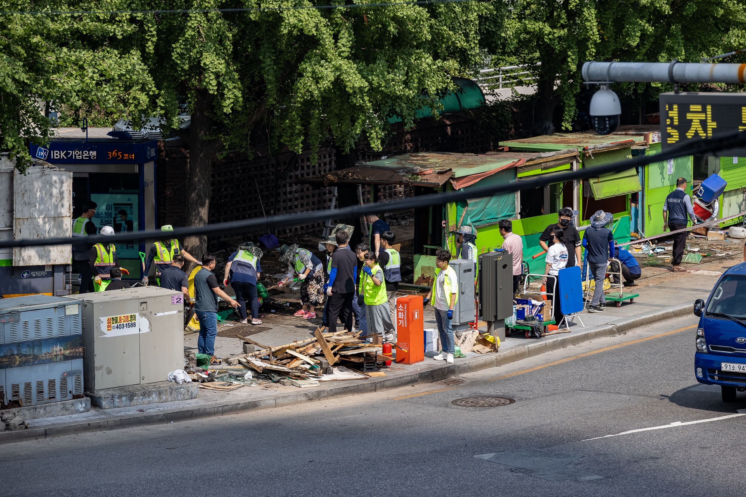
<path fill-rule="evenodd" d="M 580 69 L 587 60 L 700 62 L 746 46 L 742 0 L 510 0 L 509 6 L 495 65 L 531 65 L 537 120 L 551 121 L 560 105 L 565 129 L 577 114 Z M 656 98 L 661 87 L 618 86 L 643 99 Z"/>

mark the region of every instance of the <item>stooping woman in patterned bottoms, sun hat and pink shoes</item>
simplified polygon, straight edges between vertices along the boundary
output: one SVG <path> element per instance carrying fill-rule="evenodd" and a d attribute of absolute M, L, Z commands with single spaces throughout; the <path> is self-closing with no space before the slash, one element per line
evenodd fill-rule
<path fill-rule="evenodd" d="M 287 274 L 278 283 L 285 285 L 294 277 L 300 279 L 301 310 L 294 315 L 311 319 L 316 317 L 316 306 L 324 302 L 324 265 L 309 250 L 298 248 L 298 244 L 283 245 L 278 248 L 280 262 L 287 263 Z"/>

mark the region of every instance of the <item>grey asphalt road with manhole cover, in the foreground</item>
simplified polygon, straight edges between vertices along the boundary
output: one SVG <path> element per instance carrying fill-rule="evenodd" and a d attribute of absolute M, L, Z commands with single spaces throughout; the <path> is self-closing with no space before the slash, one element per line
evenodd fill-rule
<path fill-rule="evenodd" d="M 4 445 L 3 493 L 741 496 L 746 417 L 620 434 L 746 408 L 746 393 L 726 405 L 695 382 L 695 323 L 671 320 L 460 384 Z M 515 402 L 451 403 L 468 396 Z"/>

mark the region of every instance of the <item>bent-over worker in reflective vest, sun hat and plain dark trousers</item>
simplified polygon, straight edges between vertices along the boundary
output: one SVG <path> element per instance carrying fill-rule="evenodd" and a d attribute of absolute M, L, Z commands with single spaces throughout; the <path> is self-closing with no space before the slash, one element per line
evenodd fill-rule
<path fill-rule="evenodd" d="M 238 250 L 228 257 L 228 264 L 225 265 L 223 285 L 228 286 L 230 282 L 231 288 L 236 292 L 236 301 L 240 306 L 239 317 L 241 317 L 241 323 L 243 324 L 248 323 L 247 302 L 251 303 L 251 324 L 262 323 L 262 320 L 259 319 L 257 281 L 262 276 L 262 266 L 259 259 L 263 255 L 262 250 L 259 247 L 254 247 L 254 244 L 249 241 L 242 247 L 238 247 Z"/>

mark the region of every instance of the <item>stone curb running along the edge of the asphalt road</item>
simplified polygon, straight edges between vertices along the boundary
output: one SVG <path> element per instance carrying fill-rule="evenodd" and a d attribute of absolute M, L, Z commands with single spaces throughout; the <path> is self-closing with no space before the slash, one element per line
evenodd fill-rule
<path fill-rule="evenodd" d="M 674 317 L 685 316 L 692 312 L 692 303 L 651 311 L 630 319 L 618 320 L 602 326 L 596 326 L 587 331 L 571 335 L 560 335 L 548 340 L 533 342 L 526 346 L 510 349 L 497 355 L 480 355 L 468 361 L 437 367 L 433 370 L 405 374 L 403 376 L 370 379 L 341 386 L 329 386 L 314 390 L 301 390 L 298 393 L 265 399 L 254 399 L 245 402 L 225 402 L 222 404 L 203 405 L 195 408 L 173 409 L 156 413 L 132 414 L 111 420 L 96 420 L 92 422 L 68 422 L 52 425 L 46 428 L 28 428 L 21 431 L 11 431 L 0 434 L 0 444 L 22 442 L 36 438 L 60 437 L 63 435 L 84 433 L 87 431 L 106 431 L 118 428 L 131 428 L 142 425 L 155 425 L 176 421 L 193 420 L 203 417 L 222 416 L 236 412 L 254 411 L 258 409 L 279 408 L 285 405 L 300 404 L 316 400 L 331 399 L 333 397 L 371 393 L 392 388 L 406 387 L 412 384 L 433 383 L 442 379 L 460 376 L 466 373 L 485 370 L 490 367 L 504 366 L 521 359 L 530 358 L 545 352 L 564 349 L 567 346 L 581 344 L 594 338 L 604 338 L 620 335 L 630 329 L 648 324 L 658 323 Z M 300 390 L 300 389 L 299 389 Z"/>

